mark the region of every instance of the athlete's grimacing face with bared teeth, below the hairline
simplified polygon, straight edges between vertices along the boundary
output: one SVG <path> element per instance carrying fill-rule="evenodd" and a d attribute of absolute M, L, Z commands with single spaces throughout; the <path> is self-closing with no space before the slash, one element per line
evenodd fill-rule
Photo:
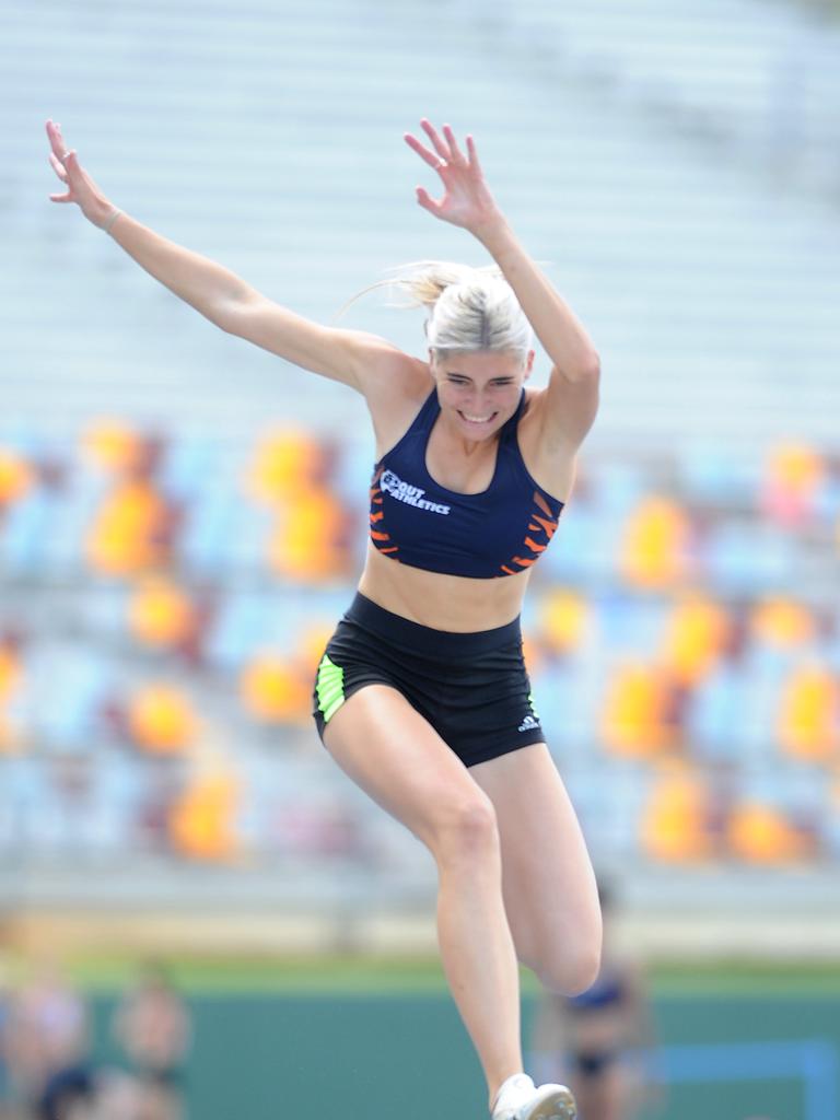
<path fill-rule="evenodd" d="M 460 435 L 480 440 L 498 431 L 514 414 L 522 385 L 531 376 L 534 352 L 523 362 L 495 351 L 429 352 L 441 414 Z"/>

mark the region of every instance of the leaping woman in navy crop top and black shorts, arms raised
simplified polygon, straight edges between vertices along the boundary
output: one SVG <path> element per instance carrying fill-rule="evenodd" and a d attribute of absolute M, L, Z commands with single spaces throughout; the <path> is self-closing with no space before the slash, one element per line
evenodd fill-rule
<path fill-rule="evenodd" d="M 428 358 L 324 327 L 119 211 L 47 122 L 66 190 L 147 272 L 223 330 L 362 393 L 377 463 L 371 542 L 318 672 L 315 717 L 339 766 L 435 858 L 438 937 L 493 1120 L 569 1120 L 571 1093 L 523 1072 L 517 959 L 551 991 L 598 972 L 595 876 L 543 740 L 522 659 L 531 567 L 558 525 L 598 404 L 598 355 L 493 199 L 472 137 L 421 122 L 407 143 L 440 177 L 417 200 L 496 274 L 429 265 Z M 552 362 L 525 389 L 533 335 Z"/>

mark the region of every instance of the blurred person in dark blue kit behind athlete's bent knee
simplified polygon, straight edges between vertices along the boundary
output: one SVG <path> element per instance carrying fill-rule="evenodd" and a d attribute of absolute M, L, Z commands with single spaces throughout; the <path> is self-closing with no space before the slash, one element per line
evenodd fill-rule
<path fill-rule="evenodd" d="M 579 1120 L 633 1120 L 660 1094 L 651 1068 L 653 1026 L 642 971 L 614 944 L 613 902 L 603 884 L 598 895 L 600 972 L 580 996 L 543 995 L 532 1039 L 535 1075 L 569 1085 Z"/>

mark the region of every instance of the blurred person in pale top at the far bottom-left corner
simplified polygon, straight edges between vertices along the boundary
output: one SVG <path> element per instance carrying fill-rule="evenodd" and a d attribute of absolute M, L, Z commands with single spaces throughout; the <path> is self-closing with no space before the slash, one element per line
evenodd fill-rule
<path fill-rule="evenodd" d="M 12 1000 L 9 1064 L 20 1098 L 38 1120 L 75 1120 L 91 1101 L 87 1007 L 58 964 L 39 961 Z"/>

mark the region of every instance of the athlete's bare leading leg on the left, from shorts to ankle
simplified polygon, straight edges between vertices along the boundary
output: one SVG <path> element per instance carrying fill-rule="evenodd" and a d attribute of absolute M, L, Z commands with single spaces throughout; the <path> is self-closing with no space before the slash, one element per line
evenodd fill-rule
<path fill-rule="evenodd" d="M 519 964 L 493 804 L 437 731 L 388 685 L 353 693 L 327 724 L 324 741 L 342 769 L 435 857 L 444 970 L 493 1101 L 502 1082 L 522 1070 Z"/>

